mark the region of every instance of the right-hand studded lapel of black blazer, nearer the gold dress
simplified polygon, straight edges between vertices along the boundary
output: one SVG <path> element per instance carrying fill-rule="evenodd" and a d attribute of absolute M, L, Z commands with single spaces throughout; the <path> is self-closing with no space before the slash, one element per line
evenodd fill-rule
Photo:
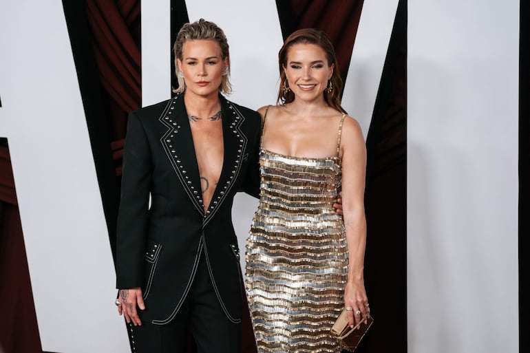
<path fill-rule="evenodd" d="M 213 215 L 231 193 L 235 180 L 240 174 L 242 162 L 248 158 L 246 145 L 248 138 L 243 133 L 241 126 L 245 117 L 235 105 L 223 96 L 220 96 L 222 107 L 222 129 L 224 141 L 224 160 L 218 185 L 215 187 L 211 204 L 206 210 L 204 226 L 209 223 Z"/>

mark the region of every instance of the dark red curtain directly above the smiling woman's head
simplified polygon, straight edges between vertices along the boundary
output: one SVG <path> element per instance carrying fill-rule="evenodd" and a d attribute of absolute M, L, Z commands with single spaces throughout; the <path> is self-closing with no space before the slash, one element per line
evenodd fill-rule
<path fill-rule="evenodd" d="M 284 40 L 301 28 L 318 28 L 330 36 L 346 82 L 363 0 L 276 0 L 276 6 Z"/>

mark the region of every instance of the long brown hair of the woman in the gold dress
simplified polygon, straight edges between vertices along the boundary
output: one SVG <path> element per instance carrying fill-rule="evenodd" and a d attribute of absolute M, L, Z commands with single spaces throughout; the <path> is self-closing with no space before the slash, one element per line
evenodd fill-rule
<path fill-rule="evenodd" d="M 282 48 L 279 50 L 278 63 L 280 82 L 277 103 L 285 104 L 293 102 L 293 100 L 295 100 L 295 94 L 293 93 L 293 91 L 288 89 L 286 92 L 286 90 L 284 89 L 284 87 L 288 85 L 284 71 L 284 67 L 287 66 L 287 52 L 289 48 L 295 44 L 315 44 L 321 47 L 324 52 L 326 52 L 326 58 L 328 58 L 329 67 L 331 67 L 331 65 L 335 65 L 335 68 L 333 69 L 333 74 L 330 78 L 330 83 L 333 89 L 326 89 L 324 91 L 324 100 L 326 101 L 326 103 L 328 103 L 330 107 L 333 107 L 338 111 L 342 111 L 344 114 L 346 114 L 346 110 L 344 110 L 341 106 L 341 94 L 343 89 L 343 83 L 339 71 L 339 63 L 337 63 L 337 55 L 335 54 L 335 48 L 333 47 L 333 44 L 331 43 L 331 39 L 328 34 L 321 30 L 317 30 L 316 28 L 302 28 L 301 30 L 293 32 L 293 34 L 287 37 L 284 42 L 284 45 L 282 45 Z"/>

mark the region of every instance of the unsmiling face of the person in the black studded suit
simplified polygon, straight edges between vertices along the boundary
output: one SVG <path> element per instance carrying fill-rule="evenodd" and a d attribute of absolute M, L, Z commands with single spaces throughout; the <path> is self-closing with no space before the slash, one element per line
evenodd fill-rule
<path fill-rule="evenodd" d="M 221 47 L 214 40 L 186 41 L 182 46 L 182 60 L 176 59 L 184 74 L 186 92 L 204 97 L 217 97 L 222 83 L 222 71 L 228 65 L 222 58 Z"/>

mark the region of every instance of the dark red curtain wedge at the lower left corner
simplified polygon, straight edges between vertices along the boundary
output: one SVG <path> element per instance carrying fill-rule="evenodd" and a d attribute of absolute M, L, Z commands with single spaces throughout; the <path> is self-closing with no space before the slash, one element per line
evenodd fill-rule
<path fill-rule="evenodd" d="M 1 138 L 0 312 L 0 352 L 42 352 L 11 160 L 7 140 Z"/>

